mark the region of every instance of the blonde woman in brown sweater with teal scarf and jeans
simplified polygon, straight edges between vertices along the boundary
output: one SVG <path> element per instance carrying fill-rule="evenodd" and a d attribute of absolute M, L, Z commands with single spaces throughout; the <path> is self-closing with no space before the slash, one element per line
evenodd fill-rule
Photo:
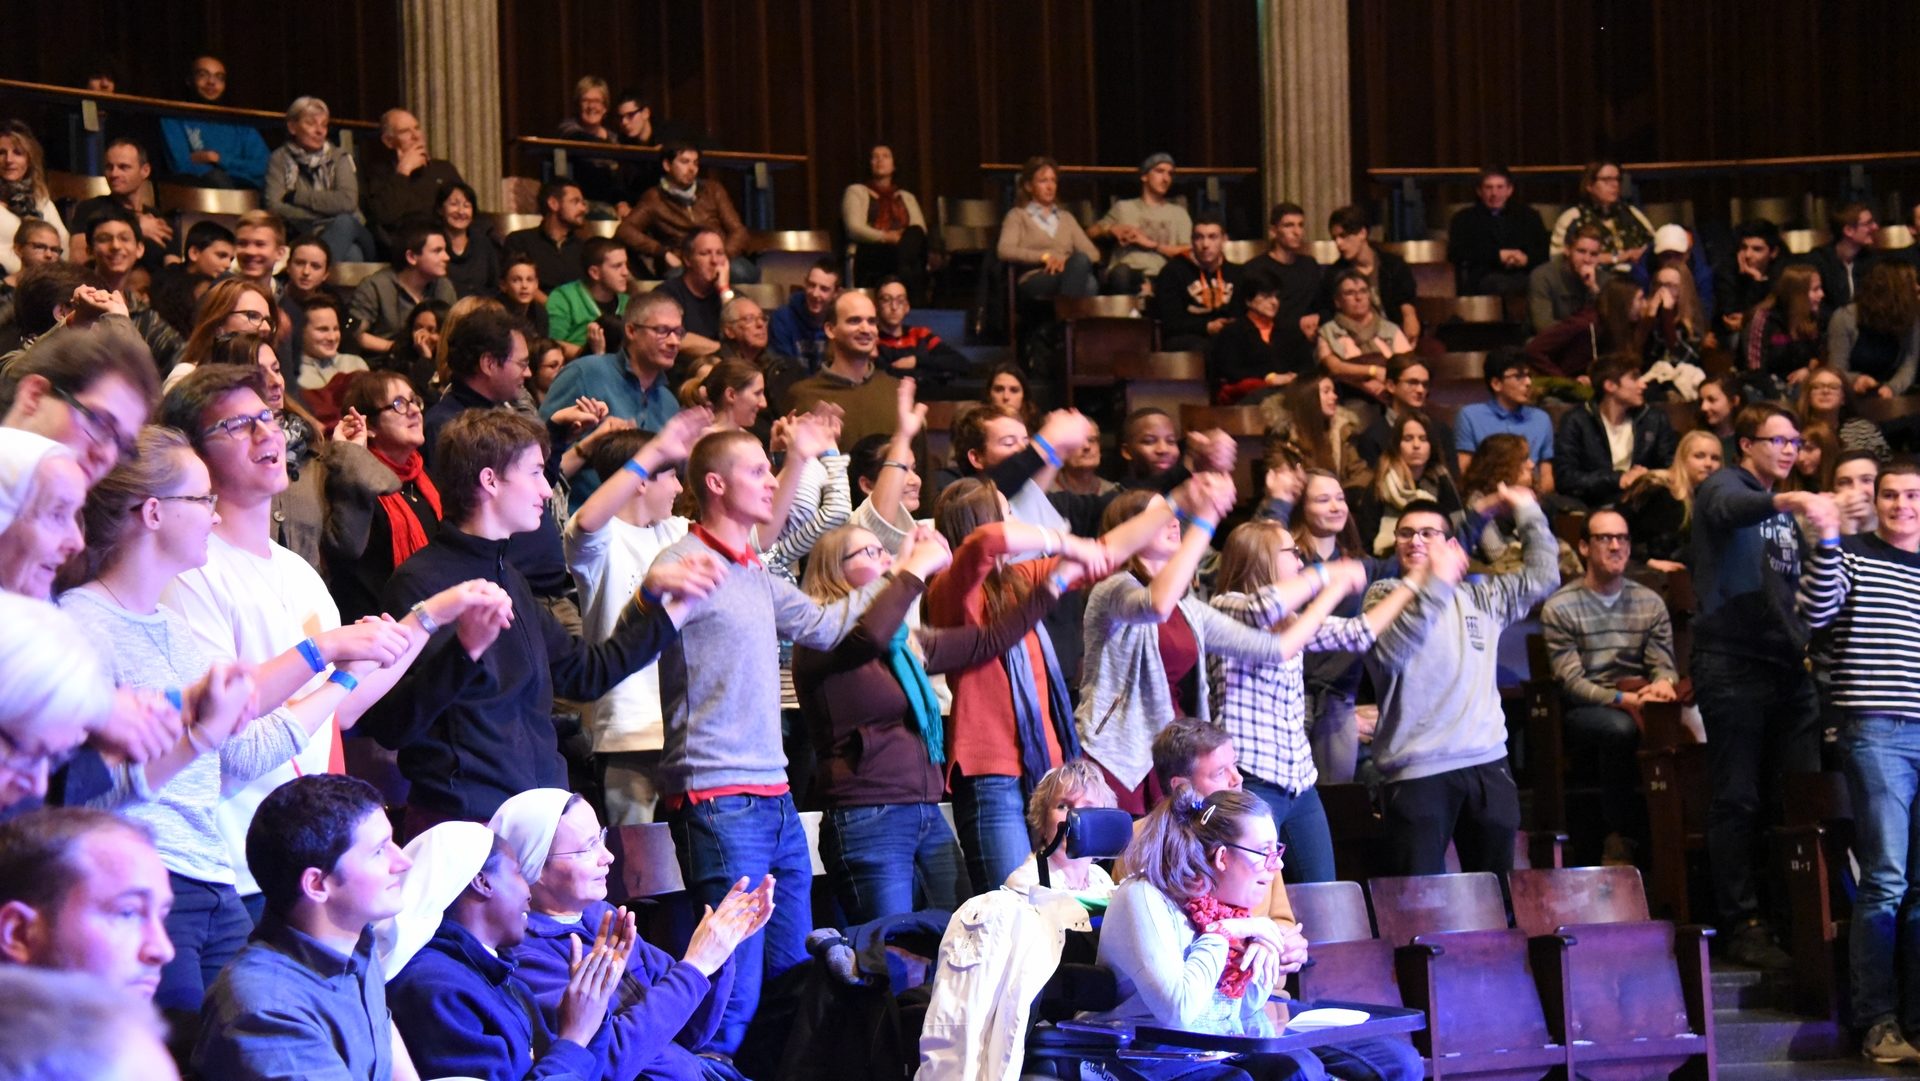
<path fill-rule="evenodd" d="M 814 543 L 801 580 L 828 605 L 889 578 L 839 645 L 793 649 L 793 689 L 816 755 L 812 791 L 826 805 L 820 858 L 854 924 L 952 910 L 973 895 L 939 812 L 947 732 L 927 678 L 993 662 L 1058 601 L 1041 588 L 983 626 L 908 626 L 908 609 L 948 559 L 931 526 L 916 528 L 899 559 L 872 532 L 841 526 Z"/>

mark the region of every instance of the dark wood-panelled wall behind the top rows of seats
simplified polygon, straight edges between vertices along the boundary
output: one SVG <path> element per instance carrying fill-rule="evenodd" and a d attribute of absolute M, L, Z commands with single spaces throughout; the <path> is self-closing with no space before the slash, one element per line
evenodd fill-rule
<path fill-rule="evenodd" d="M 1920 129 L 1920 96 L 1903 92 L 1920 6 L 1905 0 L 1348 4 L 1357 194 L 1379 194 L 1369 167 L 1878 152 Z M 712 146 L 808 154 L 776 175 L 783 225 L 831 221 L 879 138 L 924 194 L 996 194 L 979 163 L 1033 152 L 1260 163 L 1256 0 L 499 0 L 499 12 L 507 136 L 549 134 L 572 81 L 593 71 L 653 94 Z M 179 96 L 205 48 L 227 60 L 230 104 L 278 109 L 313 92 L 371 119 L 399 100 L 399 25 L 397 0 L 13 0 L 0 71 L 73 83 L 108 58 L 125 90 Z M 4 98 L 0 109 L 33 113 Z M 538 159 L 509 152 L 503 167 L 536 173 Z M 1755 184 L 1653 184 L 1649 198 L 1782 186 Z"/>

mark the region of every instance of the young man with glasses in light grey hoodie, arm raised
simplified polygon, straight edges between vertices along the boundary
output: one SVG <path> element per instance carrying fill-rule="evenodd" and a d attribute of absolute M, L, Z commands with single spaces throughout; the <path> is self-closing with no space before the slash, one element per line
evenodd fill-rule
<path fill-rule="evenodd" d="M 1428 582 L 1367 651 L 1380 691 L 1373 762 L 1386 780 L 1386 837 L 1396 874 L 1442 874 L 1446 845 L 1463 872 L 1513 870 L 1521 799 L 1507 768 L 1507 720 L 1496 668 L 1500 634 L 1559 586 L 1559 543 L 1524 488 L 1500 486 L 1482 513 L 1507 511 L 1521 532 L 1521 570 L 1459 582 L 1465 561 L 1438 503 L 1415 499 L 1400 513 L 1394 555 Z M 1384 603 L 1402 582 L 1367 589 Z"/>

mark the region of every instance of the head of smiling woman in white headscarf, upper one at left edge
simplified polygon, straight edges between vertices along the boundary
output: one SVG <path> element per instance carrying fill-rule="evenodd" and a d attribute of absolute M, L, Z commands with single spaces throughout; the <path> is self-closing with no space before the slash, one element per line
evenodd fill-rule
<path fill-rule="evenodd" d="M 86 472 L 73 451 L 21 428 L 0 428 L 0 591 L 44 601 L 54 576 L 86 541 Z"/>

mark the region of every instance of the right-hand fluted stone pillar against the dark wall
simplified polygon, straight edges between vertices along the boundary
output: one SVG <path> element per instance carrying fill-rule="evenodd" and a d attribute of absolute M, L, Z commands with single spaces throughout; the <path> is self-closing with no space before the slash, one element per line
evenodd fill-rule
<path fill-rule="evenodd" d="M 1309 238 L 1354 198 L 1346 50 L 1346 0 L 1260 0 L 1267 207 L 1306 207 Z"/>

